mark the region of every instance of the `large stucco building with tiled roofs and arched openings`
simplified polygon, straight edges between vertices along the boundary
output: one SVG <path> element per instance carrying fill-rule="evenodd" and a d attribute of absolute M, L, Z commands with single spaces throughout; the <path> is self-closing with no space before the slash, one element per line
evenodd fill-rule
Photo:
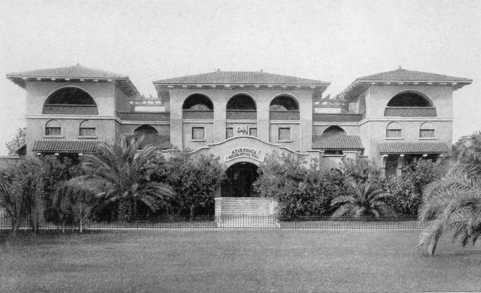
<path fill-rule="evenodd" d="M 6 77 L 26 89 L 27 155 L 76 157 L 99 141 L 145 134 L 166 151 L 219 155 L 228 167 L 221 197 L 252 195 L 257 166 L 274 151 L 326 169 L 368 158 L 386 175 L 443 155 L 452 145 L 452 92 L 472 83 L 398 68 L 321 98 L 328 82 L 217 70 L 154 81 L 158 97 L 143 98 L 128 76 L 79 64 Z"/>

